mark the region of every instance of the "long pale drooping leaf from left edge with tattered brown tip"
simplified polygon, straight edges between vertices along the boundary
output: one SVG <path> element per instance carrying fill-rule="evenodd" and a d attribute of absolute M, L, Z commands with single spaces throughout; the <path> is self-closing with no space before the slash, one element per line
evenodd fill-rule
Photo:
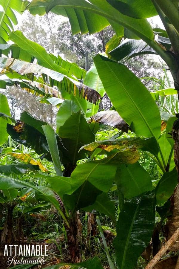
<path fill-rule="evenodd" d="M 60 90 L 58 94 L 58 91 L 55 91 L 48 86 L 45 87 L 45 85 L 38 84 L 37 82 L 34 82 L 35 86 L 33 86 L 32 82 L 24 82 L 24 84 L 22 84 L 22 87 L 30 92 L 34 90 L 35 92 L 42 95 L 49 94 L 50 92 L 50 94 L 54 97 L 60 97 L 61 99 L 72 99 L 75 97 L 78 98 L 80 96 L 81 98 L 85 98 L 86 100 L 94 104 L 101 99 L 101 96 L 100 94 L 98 94 L 97 91 L 78 82 L 74 78 L 66 77 L 64 74 L 34 63 L 27 63 L 14 58 L 0 58 L 0 67 L 6 70 L 9 70 L 10 67 L 10 70 L 15 71 L 15 74 L 13 74 L 13 78 L 18 79 L 20 78 L 18 74 L 46 74 L 53 80 L 52 86 L 55 85 Z M 12 77 L 12 74 L 10 72 L 6 75 Z M 27 78 L 25 77 L 25 79 Z M 44 82 L 46 83 L 46 81 Z"/>

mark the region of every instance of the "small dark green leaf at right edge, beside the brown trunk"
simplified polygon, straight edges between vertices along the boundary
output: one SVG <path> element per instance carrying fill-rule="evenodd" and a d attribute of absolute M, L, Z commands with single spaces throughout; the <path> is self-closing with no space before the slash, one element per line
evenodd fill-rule
<path fill-rule="evenodd" d="M 156 204 L 166 202 L 173 194 L 177 184 L 178 175 L 175 168 L 171 172 L 164 173 L 155 188 Z"/>

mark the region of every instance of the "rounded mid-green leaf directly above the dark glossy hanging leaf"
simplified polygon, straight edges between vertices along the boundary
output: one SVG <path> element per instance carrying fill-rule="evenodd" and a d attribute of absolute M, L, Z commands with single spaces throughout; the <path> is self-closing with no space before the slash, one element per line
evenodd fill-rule
<path fill-rule="evenodd" d="M 115 182 L 126 199 L 152 190 L 150 175 L 138 162 L 128 165 L 119 165 L 115 176 Z"/>

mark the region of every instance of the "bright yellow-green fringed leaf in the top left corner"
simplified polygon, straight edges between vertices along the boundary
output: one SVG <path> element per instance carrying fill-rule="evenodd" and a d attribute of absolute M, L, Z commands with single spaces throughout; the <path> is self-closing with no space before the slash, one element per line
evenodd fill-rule
<path fill-rule="evenodd" d="M 0 0 L 3 10 L 0 11 L 0 43 L 6 43 L 14 25 L 17 25 L 16 11 L 21 12 L 22 0 Z"/>

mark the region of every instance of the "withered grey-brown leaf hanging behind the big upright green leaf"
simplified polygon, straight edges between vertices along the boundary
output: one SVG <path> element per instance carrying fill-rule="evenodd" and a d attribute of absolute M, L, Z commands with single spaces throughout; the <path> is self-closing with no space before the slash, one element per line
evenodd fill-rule
<path fill-rule="evenodd" d="M 117 111 L 100 111 L 91 118 L 98 123 L 110 125 L 126 133 L 129 132 L 129 125 L 121 118 Z"/>

